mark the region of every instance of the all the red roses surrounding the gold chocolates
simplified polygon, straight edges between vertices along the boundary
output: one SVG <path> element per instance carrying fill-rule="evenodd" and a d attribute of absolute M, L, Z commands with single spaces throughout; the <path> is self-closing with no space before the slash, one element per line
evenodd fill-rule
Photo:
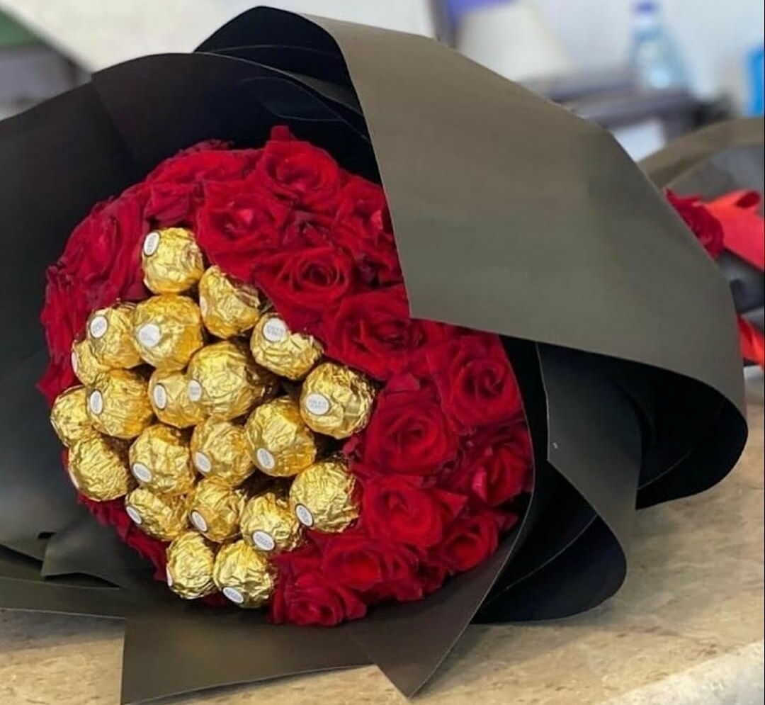
<path fill-rule="evenodd" d="M 376 385 L 369 422 L 337 449 L 358 515 L 335 533 L 308 528 L 270 558 L 271 618 L 357 619 L 369 605 L 422 599 L 486 560 L 532 484 L 500 338 L 410 318 L 382 188 L 285 128 L 262 149 L 187 149 L 77 226 L 47 272 L 47 400 L 77 384 L 70 354 L 90 313 L 151 295 L 142 247 L 168 227 L 193 231 L 208 263 L 265 293 L 291 331 L 321 342 L 323 359 Z M 122 498 L 80 501 L 166 579 L 167 543 L 135 524 Z"/>

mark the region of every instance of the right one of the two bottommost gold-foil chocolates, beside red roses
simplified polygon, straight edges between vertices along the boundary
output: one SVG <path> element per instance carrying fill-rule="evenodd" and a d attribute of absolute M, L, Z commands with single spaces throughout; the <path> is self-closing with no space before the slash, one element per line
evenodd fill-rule
<path fill-rule="evenodd" d="M 239 607 L 265 605 L 275 586 L 275 574 L 269 560 L 241 540 L 218 551 L 213 580 L 223 595 Z"/>

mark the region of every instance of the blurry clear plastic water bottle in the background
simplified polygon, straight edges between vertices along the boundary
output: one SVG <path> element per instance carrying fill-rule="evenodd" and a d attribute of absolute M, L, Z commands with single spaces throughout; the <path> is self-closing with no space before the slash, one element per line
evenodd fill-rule
<path fill-rule="evenodd" d="M 685 67 L 659 15 L 659 3 L 636 2 L 633 8 L 630 64 L 642 88 L 666 90 L 685 87 Z"/>

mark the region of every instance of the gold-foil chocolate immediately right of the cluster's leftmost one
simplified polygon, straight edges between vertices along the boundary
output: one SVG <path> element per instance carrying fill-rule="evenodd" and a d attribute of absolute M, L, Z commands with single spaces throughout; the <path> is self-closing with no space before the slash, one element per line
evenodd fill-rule
<path fill-rule="evenodd" d="M 107 436 L 131 439 L 151 423 L 146 380 L 130 370 L 102 372 L 86 387 L 88 417 Z"/>

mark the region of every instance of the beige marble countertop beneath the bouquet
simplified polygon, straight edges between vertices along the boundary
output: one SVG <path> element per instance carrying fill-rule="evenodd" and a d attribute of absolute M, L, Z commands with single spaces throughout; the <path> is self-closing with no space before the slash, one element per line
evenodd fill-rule
<path fill-rule="evenodd" d="M 763 377 L 750 439 L 717 487 L 638 514 L 627 583 L 583 615 L 471 626 L 415 705 L 748 705 L 763 701 Z M 0 612 L 0 703 L 116 705 L 122 623 Z M 403 705 L 375 667 L 164 700 Z"/>

